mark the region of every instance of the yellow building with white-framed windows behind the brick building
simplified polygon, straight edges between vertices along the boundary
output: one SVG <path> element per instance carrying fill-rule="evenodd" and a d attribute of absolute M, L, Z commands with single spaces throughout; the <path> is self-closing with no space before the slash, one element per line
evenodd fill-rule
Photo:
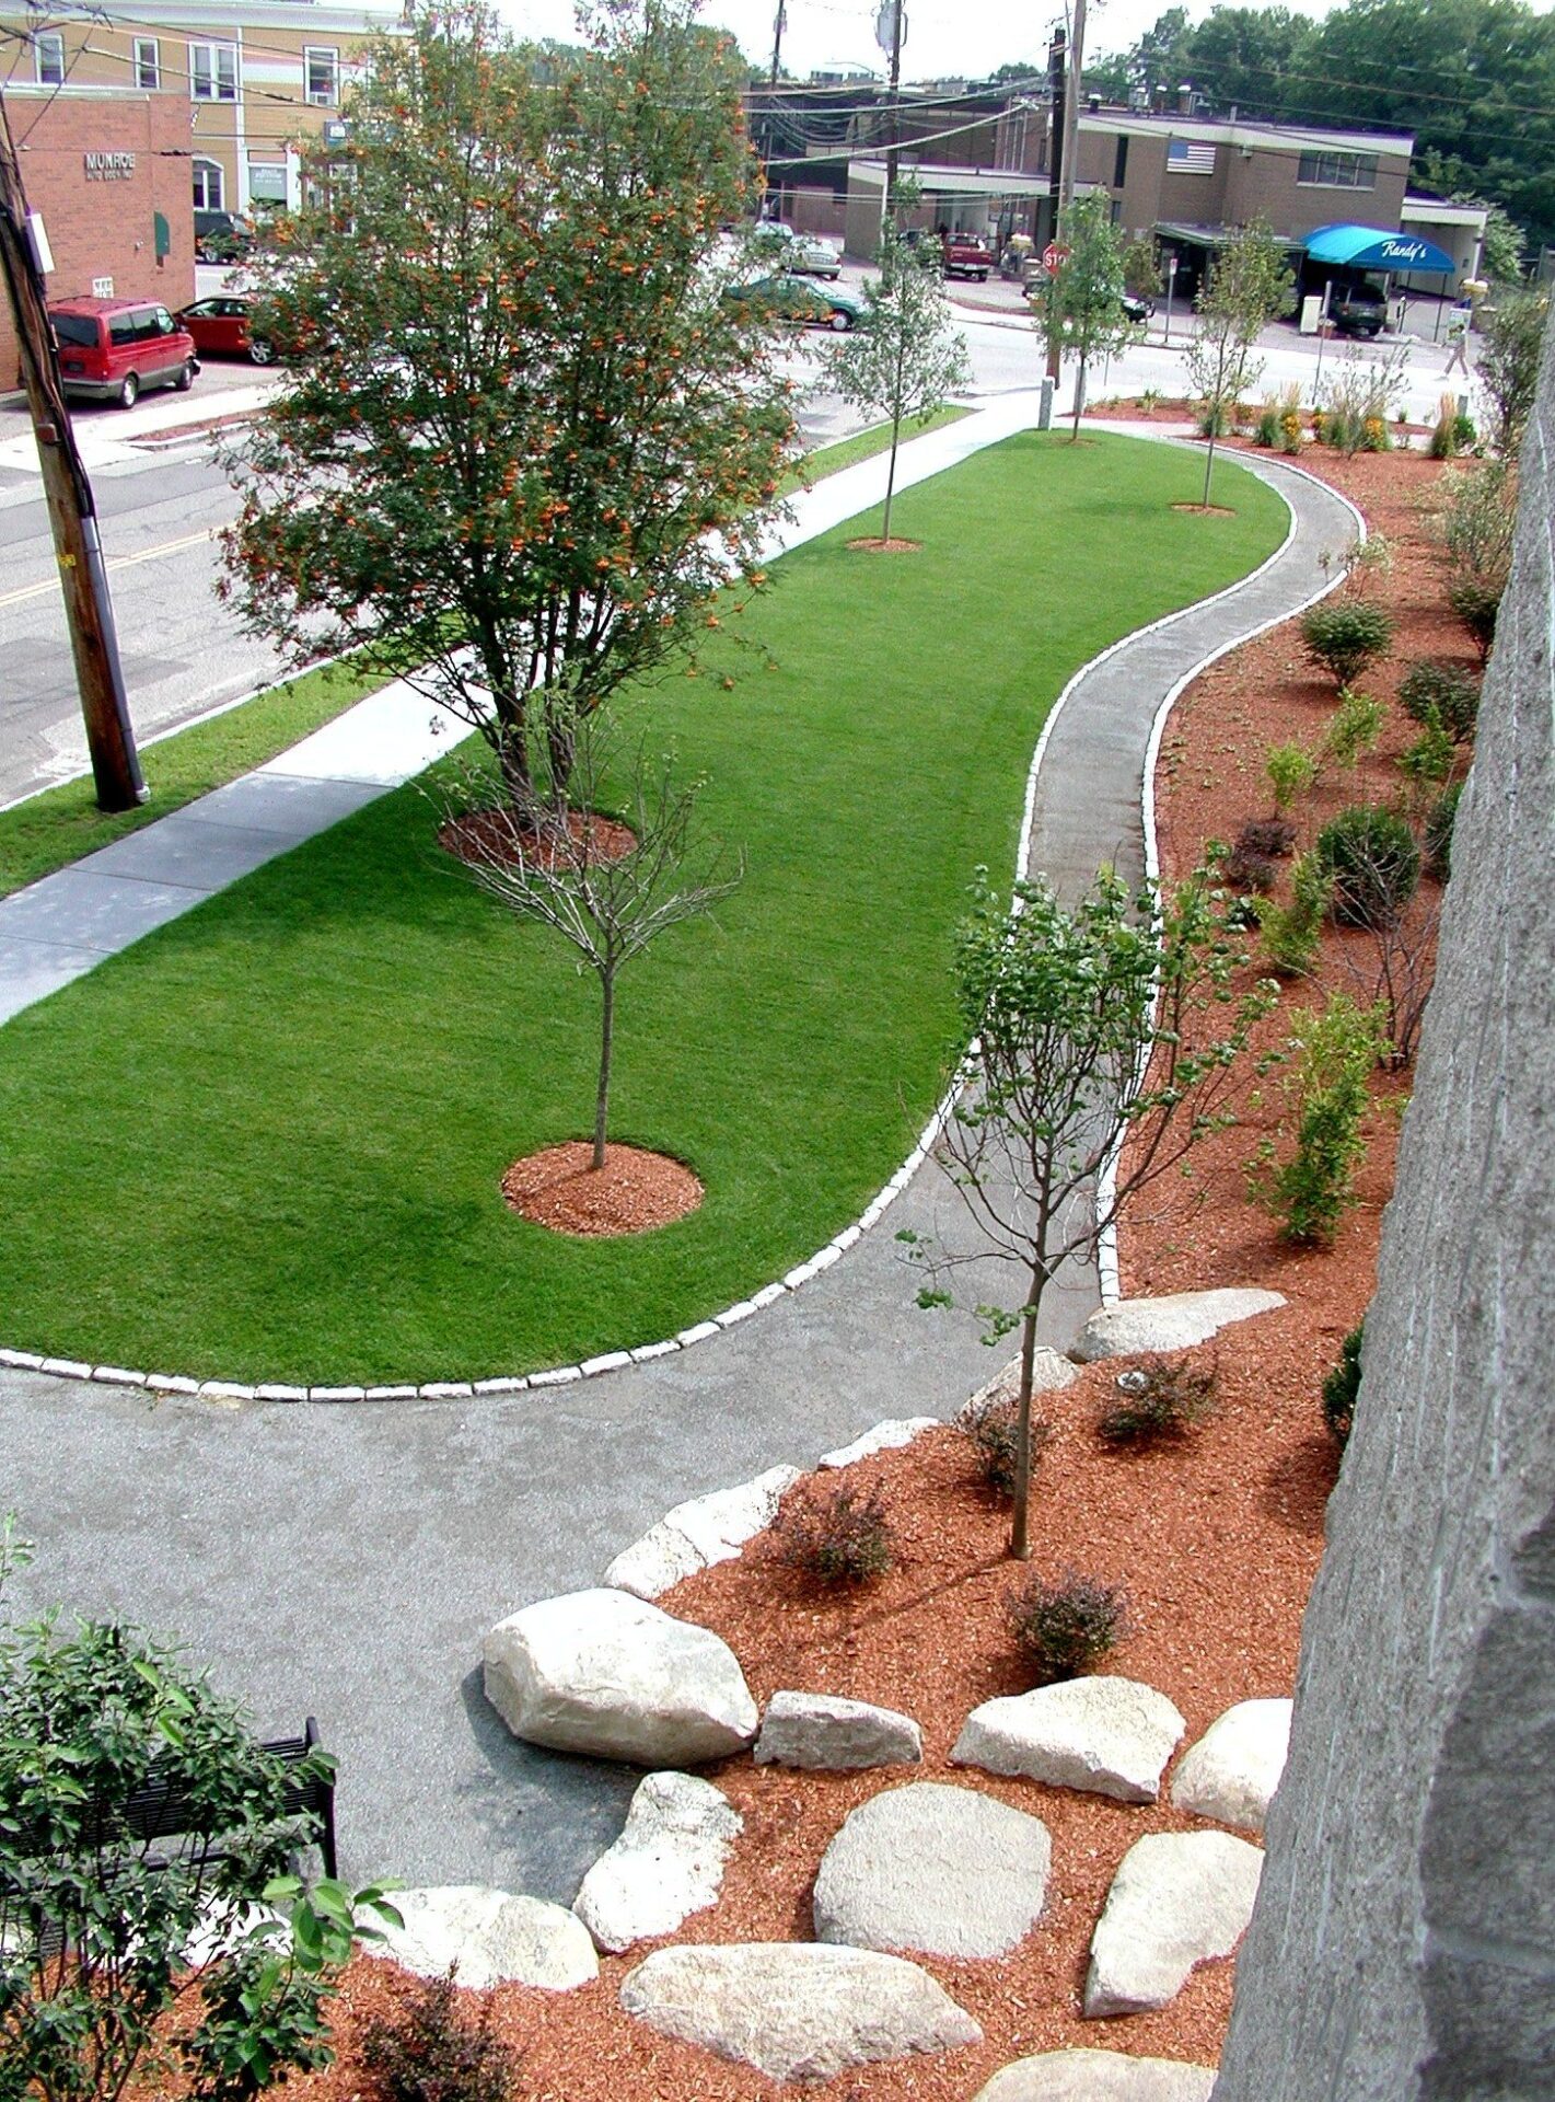
<path fill-rule="evenodd" d="M 370 38 L 401 27 L 401 0 L 0 0 L 0 84 L 118 86 L 189 103 L 193 208 L 300 204 L 296 141 L 340 120 Z"/>

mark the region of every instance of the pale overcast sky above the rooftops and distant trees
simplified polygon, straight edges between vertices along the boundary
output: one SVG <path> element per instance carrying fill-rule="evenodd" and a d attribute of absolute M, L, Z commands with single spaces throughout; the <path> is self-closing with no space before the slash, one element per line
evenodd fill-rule
<path fill-rule="evenodd" d="M 1170 0 L 1088 0 L 1088 53 L 1126 50 L 1135 44 Z M 1257 0 L 1250 0 L 1257 4 Z M 1330 0 L 1286 0 L 1294 15 L 1320 19 Z M 519 36 L 572 36 L 572 0 L 498 0 L 498 6 Z M 815 67 L 853 61 L 885 69 L 874 42 L 878 0 L 788 0 L 784 29 L 784 65 L 805 78 Z M 1189 21 L 1208 15 L 1208 0 L 1191 4 Z M 771 59 L 771 29 L 778 0 L 704 0 L 702 19 L 729 29 L 752 63 Z M 1063 19 L 1063 0 L 1038 0 L 1036 6 L 1017 0 L 983 0 L 983 6 L 956 6 L 956 0 L 906 0 L 908 34 L 901 46 L 904 80 L 935 80 L 946 74 L 990 74 L 998 65 L 1040 65 L 1053 27 Z"/>

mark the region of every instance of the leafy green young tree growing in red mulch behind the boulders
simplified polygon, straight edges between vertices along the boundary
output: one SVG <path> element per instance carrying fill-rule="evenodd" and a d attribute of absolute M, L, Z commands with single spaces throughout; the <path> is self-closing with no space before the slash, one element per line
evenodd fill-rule
<path fill-rule="evenodd" d="M 979 1305 L 990 1339 L 1019 1328 L 1011 1553 L 1028 1560 L 1032 1373 L 1046 1289 L 1070 1257 L 1095 1259 L 1141 1190 L 1231 1122 L 1229 1097 L 1252 1026 L 1276 988 L 1238 992 L 1246 942 L 1227 925 L 1212 870 L 1170 900 L 1131 891 L 1112 870 L 1074 906 L 1046 883 L 1017 883 L 1004 910 L 977 872 L 956 937 L 971 1076 L 937 1156 L 981 1246 L 946 1253 L 912 1234 L 931 1276 L 990 1253 L 1019 1280 L 1015 1305 Z M 950 1305 L 939 1282 L 920 1305 Z"/>

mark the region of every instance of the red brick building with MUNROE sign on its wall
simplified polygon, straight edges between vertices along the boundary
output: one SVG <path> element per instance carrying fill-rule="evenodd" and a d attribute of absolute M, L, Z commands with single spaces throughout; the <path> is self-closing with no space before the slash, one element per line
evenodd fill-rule
<path fill-rule="evenodd" d="M 42 214 L 50 298 L 195 294 L 189 109 L 134 88 L 6 84 L 27 204 Z M 0 391 L 17 385 L 17 336 L 0 294 Z"/>

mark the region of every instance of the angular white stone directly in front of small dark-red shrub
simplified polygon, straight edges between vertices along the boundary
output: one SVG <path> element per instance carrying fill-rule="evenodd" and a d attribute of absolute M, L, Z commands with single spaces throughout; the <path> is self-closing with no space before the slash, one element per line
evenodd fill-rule
<path fill-rule="evenodd" d="M 1120 1804 L 1154 1804 L 1185 1728 L 1166 1694 L 1139 1679 L 1063 1679 L 983 1701 L 962 1724 L 950 1759 Z"/>

